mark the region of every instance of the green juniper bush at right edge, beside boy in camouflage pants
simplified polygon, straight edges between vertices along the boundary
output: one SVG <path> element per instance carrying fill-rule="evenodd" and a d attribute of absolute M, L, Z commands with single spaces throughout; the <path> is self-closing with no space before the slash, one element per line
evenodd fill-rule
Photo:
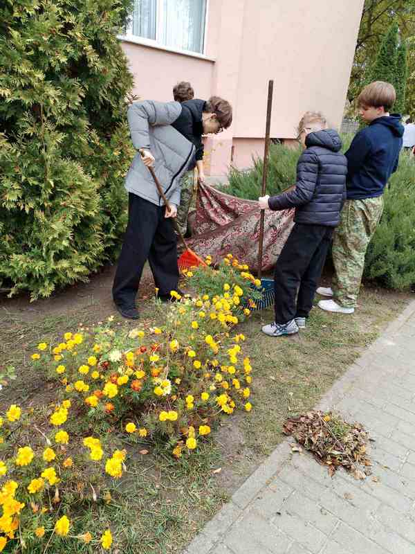
<path fill-rule="evenodd" d="M 384 200 L 382 219 L 367 251 L 365 277 L 405 289 L 415 283 L 415 164 L 405 152 Z"/>

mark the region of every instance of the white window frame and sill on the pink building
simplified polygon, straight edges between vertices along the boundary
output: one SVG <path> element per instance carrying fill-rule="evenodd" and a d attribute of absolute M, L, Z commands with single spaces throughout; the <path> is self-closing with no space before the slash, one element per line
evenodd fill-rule
<path fill-rule="evenodd" d="M 214 61 L 214 58 L 208 57 L 206 55 L 206 44 L 207 44 L 207 37 L 208 37 L 208 19 L 209 19 L 209 8 L 210 8 L 210 0 L 206 0 L 206 7 L 205 7 L 205 24 L 203 28 L 203 52 L 194 52 L 192 50 L 184 50 L 183 48 L 172 48 L 170 46 L 165 46 L 162 42 L 159 42 L 158 37 L 163 35 L 163 1 L 162 0 L 156 0 L 156 39 L 149 39 L 147 37 L 138 37 L 137 35 L 133 35 L 132 29 L 133 29 L 133 22 L 131 21 L 129 25 L 125 29 L 125 33 L 122 35 L 119 35 L 118 38 L 121 39 L 124 42 L 133 42 L 136 44 L 142 44 L 144 46 L 152 46 L 153 48 L 157 48 L 158 50 L 165 50 L 168 52 L 174 52 L 177 54 L 183 54 L 188 55 L 192 57 L 200 57 L 203 60 L 210 60 Z"/>

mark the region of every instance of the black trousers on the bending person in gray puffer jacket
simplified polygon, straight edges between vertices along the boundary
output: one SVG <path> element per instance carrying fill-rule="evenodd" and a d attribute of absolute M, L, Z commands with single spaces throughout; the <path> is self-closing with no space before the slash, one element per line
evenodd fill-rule
<path fill-rule="evenodd" d="M 173 222 L 165 218 L 164 206 L 156 206 L 129 193 L 127 231 L 113 283 L 113 299 L 117 305 L 136 305 L 146 260 L 149 260 L 160 296 L 177 289 L 177 240 Z"/>

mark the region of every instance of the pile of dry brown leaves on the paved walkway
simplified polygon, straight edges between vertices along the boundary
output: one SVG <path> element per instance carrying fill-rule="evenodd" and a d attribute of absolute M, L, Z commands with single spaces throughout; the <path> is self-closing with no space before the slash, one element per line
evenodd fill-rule
<path fill-rule="evenodd" d="M 293 436 L 312 452 L 317 462 L 329 468 L 331 475 L 340 466 L 356 479 L 365 479 L 371 474 L 371 461 L 366 453 L 369 437 L 360 423 L 347 423 L 332 412 L 308 411 L 298 418 L 288 418 L 284 434 Z"/>

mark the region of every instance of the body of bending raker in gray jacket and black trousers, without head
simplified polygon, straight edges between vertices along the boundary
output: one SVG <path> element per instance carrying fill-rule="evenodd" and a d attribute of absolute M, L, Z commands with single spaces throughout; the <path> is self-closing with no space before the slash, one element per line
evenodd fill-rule
<path fill-rule="evenodd" d="M 172 123 L 180 116 L 179 102 L 134 102 L 127 117 L 138 150 L 125 178 L 129 193 L 127 230 L 113 283 L 113 301 L 120 314 L 138 319 L 136 294 L 142 269 L 149 260 L 158 296 L 169 300 L 177 290 L 177 241 L 172 217 L 180 203 L 180 181 L 194 163 L 195 148 Z M 148 170 L 154 167 L 170 210 L 164 206 Z"/>

